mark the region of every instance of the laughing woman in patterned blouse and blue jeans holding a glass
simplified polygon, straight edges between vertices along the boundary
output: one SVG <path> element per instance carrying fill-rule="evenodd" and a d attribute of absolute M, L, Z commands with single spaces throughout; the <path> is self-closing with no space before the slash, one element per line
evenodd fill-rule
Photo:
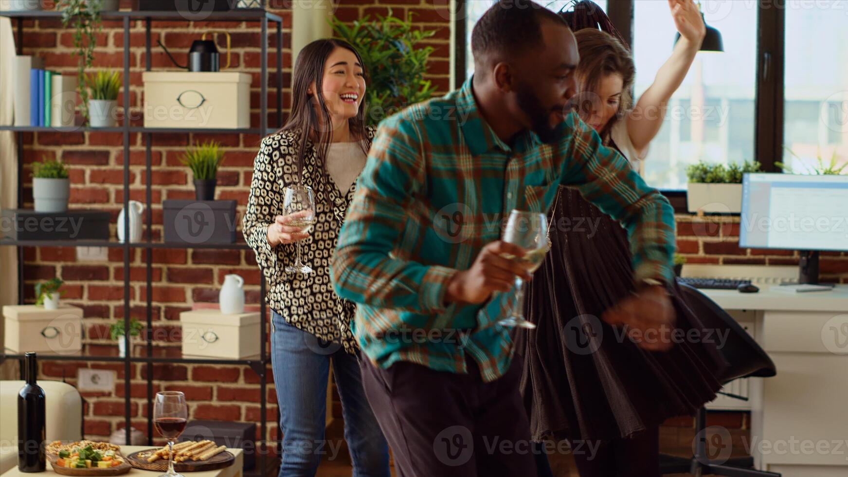
<path fill-rule="evenodd" d="M 329 263 L 374 130 L 365 126 L 365 70 L 347 42 L 311 42 L 294 65 L 292 109 L 265 137 L 254 162 L 243 231 L 269 288 L 271 367 L 280 406 L 280 477 L 315 475 L 324 449 L 330 363 L 342 398 L 354 475 L 388 476 L 388 445 L 362 389 L 359 348 L 350 333 L 354 304 L 330 284 Z M 285 188 L 315 196 L 311 235 L 283 211 Z M 287 273 L 296 247 L 311 273 Z M 331 359 L 332 358 L 332 359 Z"/>

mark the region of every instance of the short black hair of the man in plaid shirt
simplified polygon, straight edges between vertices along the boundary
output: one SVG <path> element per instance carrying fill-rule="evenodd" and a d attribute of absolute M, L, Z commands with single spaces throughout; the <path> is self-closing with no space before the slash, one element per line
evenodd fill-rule
<path fill-rule="evenodd" d="M 562 17 L 532 0 L 500 0 L 486 10 L 471 31 L 474 62 L 491 53 L 522 53 L 542 43 L 542 20 L 568 27 Z"/>

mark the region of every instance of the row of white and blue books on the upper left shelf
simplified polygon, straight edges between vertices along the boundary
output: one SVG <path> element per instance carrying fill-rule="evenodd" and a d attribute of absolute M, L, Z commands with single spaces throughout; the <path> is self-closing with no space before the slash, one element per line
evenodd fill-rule
<path fill-rule="evenodd" d="M 76 75 L 44 69 L 37 56 L 14 61 L 14 126 L 74 126 Z"/>

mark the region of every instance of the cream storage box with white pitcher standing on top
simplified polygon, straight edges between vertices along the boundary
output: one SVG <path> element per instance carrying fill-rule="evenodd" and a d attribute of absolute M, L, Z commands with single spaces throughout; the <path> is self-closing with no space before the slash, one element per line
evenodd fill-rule
<path fill-rule="evenodd" d="M 180 313 L 183 356 L 241 359 L 259 356 L 259 312 L 224 315 L 220 310 Z"/>

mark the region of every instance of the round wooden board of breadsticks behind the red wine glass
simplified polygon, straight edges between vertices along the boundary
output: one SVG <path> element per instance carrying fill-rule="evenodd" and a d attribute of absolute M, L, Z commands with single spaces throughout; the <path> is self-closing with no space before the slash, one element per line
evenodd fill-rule
<path fill-rule="evenodd" d="M 170 452 L 168 446 L 133 452 L 126 456 L 127 462 L 136 469 L 168 470 Z M 183 441 L 174 444 L 174 470 L 192 472 L 228 467 L 236 460 L 226 446 L 214 441 Z"/>

